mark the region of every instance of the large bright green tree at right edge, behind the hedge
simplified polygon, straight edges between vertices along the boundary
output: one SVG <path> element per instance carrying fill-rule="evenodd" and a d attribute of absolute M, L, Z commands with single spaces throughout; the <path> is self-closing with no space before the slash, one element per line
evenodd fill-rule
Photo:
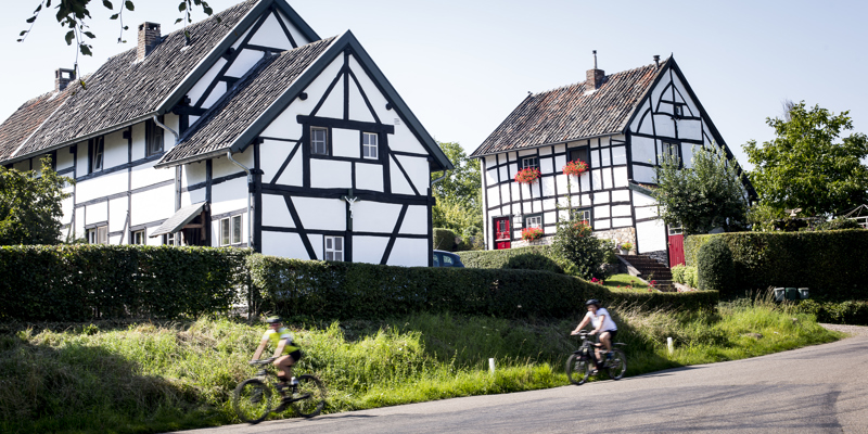
<path fill-rule="evenodd" d="M 854 132 L 834 143 L 842 131 L 852 130 L 850 112 L 834 115 L 805 102 L 793 104 L 789 120 L 766 118 L 775 129 L 774 140 L 744 144 L 754 165 L 748 176 L 761 203 L 782 212 L 802 208 L 808 216 L 841 214 L 868 202 L 868 139 Z"/>

